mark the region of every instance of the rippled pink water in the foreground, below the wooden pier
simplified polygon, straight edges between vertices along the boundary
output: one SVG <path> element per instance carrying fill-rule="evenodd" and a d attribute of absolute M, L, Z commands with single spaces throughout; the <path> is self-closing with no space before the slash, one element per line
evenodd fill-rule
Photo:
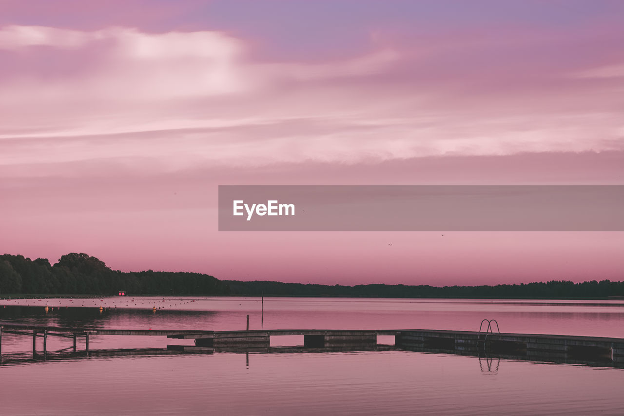
<path fill-rule="evenodd" d="M 462 355 L 248 355 L 249 366 L 218 352 L 4 365 L 2 413 L 615 415 L 624 404 L 622 371 L 501 359 L 482 377 L 479 357 Z"/>

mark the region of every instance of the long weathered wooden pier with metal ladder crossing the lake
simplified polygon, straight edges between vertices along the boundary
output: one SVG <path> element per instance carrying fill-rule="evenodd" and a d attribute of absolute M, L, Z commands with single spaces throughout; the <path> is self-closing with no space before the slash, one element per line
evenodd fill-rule
<path fill-rule="evenodd" d="M 102 335 L 160 336 L 169 339 L 193 339 L 195 345 L 168 345 L 178 352 L 323 352 L 374 351 L 388 349 L 377 344 L 378 335 L 394 336 L 394 349 L 448 354 L 497 354 L 518 359 L 555 362 L 612 363 L 624 366 L 624 339 L 582 337 L 575 335 L 508 334 L 456 330 L 145 330 L 145 329 L 85 329 L 52 327 L 0 322 L 0 361 L 2 334 L 32 337 L 32 354 L 37 356 L 36 338 L 43 338 L 42 357 L 47 355 L 47 337 L 84 339 L 84 352 L 89 354 L 89 337 Z M 271 347 L 271 337 L 303 335 L 303 345 Z"/>

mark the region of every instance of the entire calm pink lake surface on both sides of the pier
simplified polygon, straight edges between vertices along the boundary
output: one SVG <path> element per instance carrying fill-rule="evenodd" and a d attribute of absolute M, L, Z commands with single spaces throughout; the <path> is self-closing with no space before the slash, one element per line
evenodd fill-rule
<path fill-rule="evenodd" d="M 0 300 L 3 321 L 92 328 L 244 329 L 247 314 L 251 329 L 260 329 L 256 298 Z M 270 298 L 263 325 L 477 330 L 484 318 L 497 319 L 503 332 L 624 338 L 622 301 Z M 90 348 L 184 342 L 94 336 Z M 49 350 L 71 344 L 48 339 Z M 2 414 L 615 415 L 624 409 L 624 370 L 609 367 L 406 351 L 20 360 L 31 348 L 30 337 L 2 336 Z"/>

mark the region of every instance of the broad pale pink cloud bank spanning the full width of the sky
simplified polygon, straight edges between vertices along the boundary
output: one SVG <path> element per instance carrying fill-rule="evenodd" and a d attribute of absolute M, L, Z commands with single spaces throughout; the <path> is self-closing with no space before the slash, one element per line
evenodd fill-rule
<path fill-rule="evenodd" d="M 170 171 L 622 149 L 609 86 L 570 78 L 562 59 L 545 65 L 547 51 L 533 62 L 472 34 L 468 53 L 464 38 L 426 54 L 422 41 L 378 39 L 341 59 L 275 61 L 218 31 L 5 26 L 0 164 Z"/>

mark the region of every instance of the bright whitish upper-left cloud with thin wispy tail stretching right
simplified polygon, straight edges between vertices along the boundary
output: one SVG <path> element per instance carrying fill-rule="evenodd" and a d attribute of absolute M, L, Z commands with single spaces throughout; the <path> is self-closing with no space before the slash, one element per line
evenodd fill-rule
<path fill-rule="evenodd" d="M 322 64 L 248 62 L 245 44 L 222 32 L 167 32 L 152 34 L 111 27 L 82 32 L 42 26 L 6 26 L 0 29 L 0 49 L 27 51 L 34 46 L 75 49 L 83 61 L 96 67 L 71 78 L 46 72 L 18 84 L 12 99 L 34 87 L 58 98 L 177 99 L 248 92 L 285 79 L 305 81 L 374 74 L 396 60 L 392 51 Z M 37 53 L 31 52 L 31 53 Z M 94 56 L 95 55 L 95 56 Z M 71 57 L 57 54 L 60 59 Z M 19 57 L 17 57 L 19 59 Z M 32 71 L 32 68 L 31 68 Z M 10 74 L 9 74 L 10 75 Z M 39 85 L 37 85 L 39 84 Z M 6 86 L 5 86 L 6 87 Z M 26 91 L 24 91 L 26 90 Z M 26 99 L 31 97 L 26 94 Z"/>

